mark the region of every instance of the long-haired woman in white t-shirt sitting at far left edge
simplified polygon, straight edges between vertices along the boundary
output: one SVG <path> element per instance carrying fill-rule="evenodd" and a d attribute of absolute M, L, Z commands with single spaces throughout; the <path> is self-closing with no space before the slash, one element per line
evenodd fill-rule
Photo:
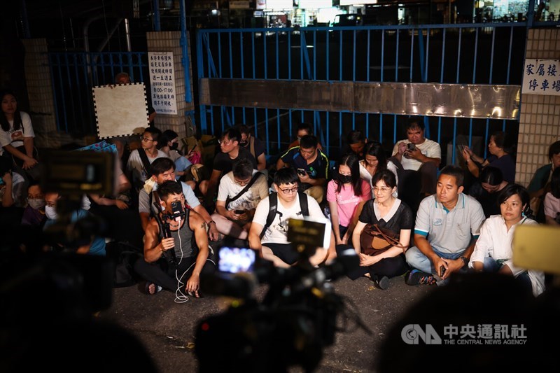
<path fill-rule="evenodd" d="M 31 118 L 29 114 L 18 110 L 18 101 L 12 92 L 2 92 L 0 96 L 0 146 L 3 155 L 11 155 L 17 167 L 29 171 L 38 163 L 34 155 L 35 133 Z"/>

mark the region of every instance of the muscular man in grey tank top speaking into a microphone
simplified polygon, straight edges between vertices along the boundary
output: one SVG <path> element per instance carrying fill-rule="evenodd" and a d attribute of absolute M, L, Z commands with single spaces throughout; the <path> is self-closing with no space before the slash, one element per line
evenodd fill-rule
<path fill-rule="evenodd" d="M 137 260 L 134 269 L 147 280 L 146 293 L 155 294 L 165 288 L 184 296 L 184 286 L 189 295 L 200 297 L 201 272 L 214 272 L 214 262 L 208 258 L 204 220 L 195 211 L 185 209 L 180 183 L 165 181 L 158 194 L 162 212 L 146 227 L 144 260 Z"/>

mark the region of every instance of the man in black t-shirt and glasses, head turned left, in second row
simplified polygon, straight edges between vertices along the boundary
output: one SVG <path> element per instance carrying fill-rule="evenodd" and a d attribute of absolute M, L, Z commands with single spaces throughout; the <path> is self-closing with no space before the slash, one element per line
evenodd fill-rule
<path fill-rule="evenodd" d="M 206 196 L 207 206 L 214 205 L 214 195 L 222 175 L 228 174 L 233 168 L 233 163 L 237 160 L 248 160 L 251 162 L 253 169 L 257 168 L 257 161 L 255 157 L 246 148 L 239 146 L 241 141 L 241 132 L 239 129 L 227 129 L 220 139 L 220 150 L 214 157 L 214 166 L 212 167 L 212 174 L 207 188 L 201 188 L 201 192 Z M 205 189 L 205 190 L 204 190 Z"/>

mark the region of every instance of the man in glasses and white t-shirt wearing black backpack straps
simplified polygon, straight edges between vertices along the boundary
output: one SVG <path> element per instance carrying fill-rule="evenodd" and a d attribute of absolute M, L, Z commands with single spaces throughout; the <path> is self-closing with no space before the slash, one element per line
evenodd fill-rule
<path fill-rule="evenodd" d="M 295 169 L 279 169 L 274 174 L 274 188 L 277 192 L 262 199 L 257 206 L 251 230 L 249 246 L 260 251 L 262 258 L 270 260 L 276 267 L 289 267 L 300 258 L 295 248 L 288 242 L 288 220 L 309 216 L 315 220 L 328 220 L 313 197 L 297 191 L 299 178 Z M 262 241 L 261 241 L 262 239 Z M 335 239 L 330 239 L 330 248 L 318 248 L 309 258 L 311 265 L 324 262 L 328 253 L 335 252 Z"/>

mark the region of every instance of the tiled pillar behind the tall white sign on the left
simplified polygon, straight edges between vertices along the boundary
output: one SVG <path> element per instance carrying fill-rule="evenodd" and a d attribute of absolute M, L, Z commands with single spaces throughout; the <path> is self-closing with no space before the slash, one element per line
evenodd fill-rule
<path fill-rule="evenodd" d="M 185 111 L 195 110 L 193 102 L 185 101 L 185 74 L 181 59 L 183 53 L 181 50 L 181 31 L 158 31 L 148 32 L 146 34 L 148 42 L 148 52 L 173 52 L 173 62 L 175 70 L 175 90 L 177 101 L 177 115 L 160 114 L 155 117 L 155 126 L 165 131 L 172 129 L 179 134 L 179 138 L 191 136 L 195 132 L 195 125 L 190 121 L 190 117 L 185 115 Z M 190 40 L 187 34 L 189 60 L 193 61 L 190 56 Z M 190 67 L 190 87 L 188 90 L 193 97 L 193 71 L 192 63 Z M 150 92 L 146 92 L 150 93 Z"/>

